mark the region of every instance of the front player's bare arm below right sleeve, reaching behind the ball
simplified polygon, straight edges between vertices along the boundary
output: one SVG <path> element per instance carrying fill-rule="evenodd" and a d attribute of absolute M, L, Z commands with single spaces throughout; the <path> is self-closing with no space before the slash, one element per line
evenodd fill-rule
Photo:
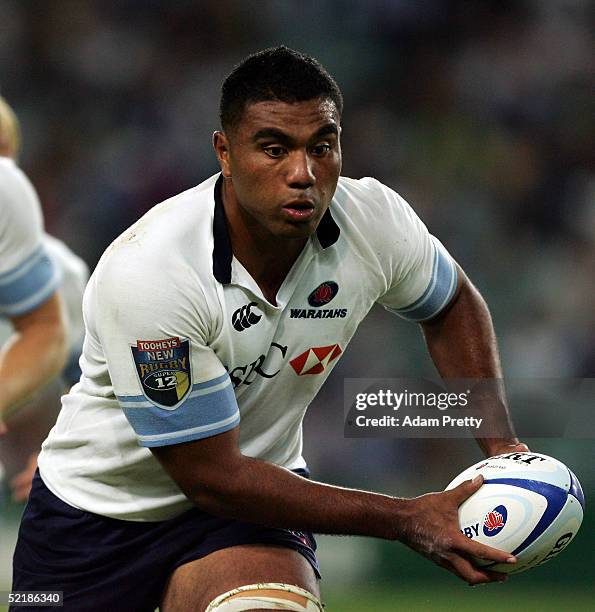
<path fill-rule="evenodd" d="M 421 324 L 432 360 L 442 378 L 502 380 L 498 343 L 485 300 L 458 267 L 457 293 L 437 317 Z M 493 393 L 492 393 L 493 392 Z M 479 438 L 486 456 L 529 450 L 519 443 L 506 407 L 501 385 L 492 386 L 486 398 L 486 417 L 493 419 L 499 438 Z"/>

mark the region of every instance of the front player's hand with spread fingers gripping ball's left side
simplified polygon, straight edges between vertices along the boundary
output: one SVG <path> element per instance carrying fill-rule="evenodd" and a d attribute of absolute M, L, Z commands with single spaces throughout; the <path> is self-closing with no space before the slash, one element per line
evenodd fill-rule
<path fill-rule="evenodd" d="M 459 529 L 458 507 L 483 484 L 480 475 L 442 493 L 428 493 L 407 500 L 409 507 L 399 520 L 398 538 L 413 550 L 456 574 L 473 586 L 503 582 L 507 575 L 482 569 L 473 558 L 515 563 L 510 553 L 475 542 Z"/>

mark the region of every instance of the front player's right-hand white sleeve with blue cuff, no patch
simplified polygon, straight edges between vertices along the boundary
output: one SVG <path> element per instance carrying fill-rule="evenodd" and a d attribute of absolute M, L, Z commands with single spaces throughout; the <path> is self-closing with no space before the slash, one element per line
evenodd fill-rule
<path fill-rule="evenodd" d="M 381 185 L 387 291 L 378 302 L 410 321 L 436 317 L 453 300 L 458 266 L 409 204 Z"/>

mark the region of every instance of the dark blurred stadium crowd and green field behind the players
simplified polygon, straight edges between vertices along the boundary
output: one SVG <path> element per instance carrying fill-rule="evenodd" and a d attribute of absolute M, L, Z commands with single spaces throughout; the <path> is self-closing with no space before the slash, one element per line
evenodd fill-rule
<path fill-rule="evenodd" d="M 312 54 L 344 92 L 343 173 L 399 191 L 460 261 L 491 306 L 506 375 L 593 377 L 594 12 L 586 0 L 0 0 L 0 93 L 48 230 L 93 267 L 151 206 L 217 170 L 218 91 L 235 63 L 281 43 Z M 343 437 L 344 377 L 431 372 L 416 327 L 373 311 L 310 408 L 314 476 L 417 495 L 478 460 L 469 440 Z M 51 412 L 52 394 L 31 414 Z M 9 470 L 41 418 L 25 420 L 0 443 Z M 573 467 L 589 504 L 593 440 L 526 441 Z M 0 590 L 19 512 L 5 509 Z M 593 609 L 594 531 L 587 514 L 557 560 L 479 589 L 398 544 L 323 537 L 325 598 L 343 612 Z"/>

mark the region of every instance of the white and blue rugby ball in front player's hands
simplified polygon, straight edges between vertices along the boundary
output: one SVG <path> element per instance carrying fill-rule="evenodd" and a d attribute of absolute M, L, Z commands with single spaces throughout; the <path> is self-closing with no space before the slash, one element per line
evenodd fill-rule
<path fill-rule="evenodd" d="M 512 553 L 515 564 L 477 559 L 477 565 L 517 574 L 558 555 L 576 536 L 585 498 L 577 477 L 540 453 L 490 457 L 447 487 L 482 474 L 483 485 L 459 507 L 461 531 L 472 540 Z"/>

